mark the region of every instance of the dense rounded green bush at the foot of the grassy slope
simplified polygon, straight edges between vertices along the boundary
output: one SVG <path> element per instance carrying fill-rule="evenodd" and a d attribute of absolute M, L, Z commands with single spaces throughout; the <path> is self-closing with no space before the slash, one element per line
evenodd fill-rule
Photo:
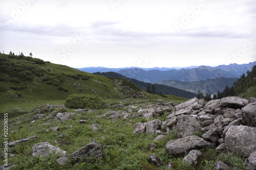
<path fill-rule="evenodd" d="M 106 103 L 96 95 L 73 94 L 66 99 L 66 107 L 71 109 L 103 109 Z"/>

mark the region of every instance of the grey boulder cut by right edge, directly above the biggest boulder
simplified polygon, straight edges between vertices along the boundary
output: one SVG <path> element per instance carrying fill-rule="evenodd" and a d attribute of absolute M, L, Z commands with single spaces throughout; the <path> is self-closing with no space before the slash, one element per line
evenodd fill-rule
<path fill-rule="evenodd" d="M 246 105 L 241 110 L 246 125 L 256 127 L 256 102 Z"/>

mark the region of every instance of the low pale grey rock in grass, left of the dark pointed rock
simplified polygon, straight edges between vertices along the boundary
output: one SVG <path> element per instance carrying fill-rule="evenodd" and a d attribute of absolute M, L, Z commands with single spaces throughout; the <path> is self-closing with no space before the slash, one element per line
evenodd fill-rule
<path fill-rule="evenodd" d="M 62 151 L 58 147 L 54 147 L 54 145 L 49 142 L 37 143 L 32 147 L 32 156 L 46 156 L 49 153 L 60 154 L 61 157 L 65 157 L 67 154 L 66 151 Z"/>

